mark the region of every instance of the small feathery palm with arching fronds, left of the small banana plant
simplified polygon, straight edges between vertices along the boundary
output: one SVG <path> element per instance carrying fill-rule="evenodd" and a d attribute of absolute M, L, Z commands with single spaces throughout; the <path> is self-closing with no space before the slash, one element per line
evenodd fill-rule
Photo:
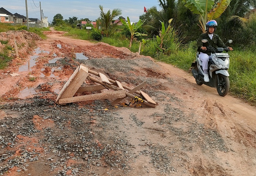
<path fill-rule="evenodd" d="M 112 12 L 110 10 L 107 13 L 104 13 L 103 6 L 99 5 L 100 8 L 100 17 L 98 21 L 98 25 L 106 37 L 109 36 L 111 28 L 114 26 L 112 24 L 112 20 L 122 14 L 122 10 L 119 8 L 113 9 Z"/>

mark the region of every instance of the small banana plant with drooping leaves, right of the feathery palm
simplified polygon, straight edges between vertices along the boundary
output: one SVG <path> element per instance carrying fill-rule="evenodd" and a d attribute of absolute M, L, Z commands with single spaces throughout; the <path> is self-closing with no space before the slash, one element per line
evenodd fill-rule
<path fill-rule="evenodd" d="M 126 28 L 128 28 L 131 32 L 129 48 L 131 48 L 132 41 L 135 39 L 135 36 L 147 36 L 147 34 L 141 34 L 141 33 L 137 32 L 138 28 L 141 27 L 144 22 L 144 21 L 141 21 L 141 19 L 136 24 L 134 24 L 134 23 L 131 24 L 129 17 L 127 17 L 127 23 L 121 17 L 119 19 L 123 23 L 123 25 L 126 26 Z"/>

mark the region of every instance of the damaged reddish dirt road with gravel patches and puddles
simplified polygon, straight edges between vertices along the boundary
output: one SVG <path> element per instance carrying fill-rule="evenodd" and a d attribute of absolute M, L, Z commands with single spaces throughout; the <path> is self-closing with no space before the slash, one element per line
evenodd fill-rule
<path fill-rule="evenodd" d="M 35 50 L 20 37 L 26 50 L 0 71 L 0 175 L 256 175 L 255 107 L 127 48 L 45 33 Z M 129 87 L 146 81 L 156 108 L 56 105 L 81 63 Z"/>

